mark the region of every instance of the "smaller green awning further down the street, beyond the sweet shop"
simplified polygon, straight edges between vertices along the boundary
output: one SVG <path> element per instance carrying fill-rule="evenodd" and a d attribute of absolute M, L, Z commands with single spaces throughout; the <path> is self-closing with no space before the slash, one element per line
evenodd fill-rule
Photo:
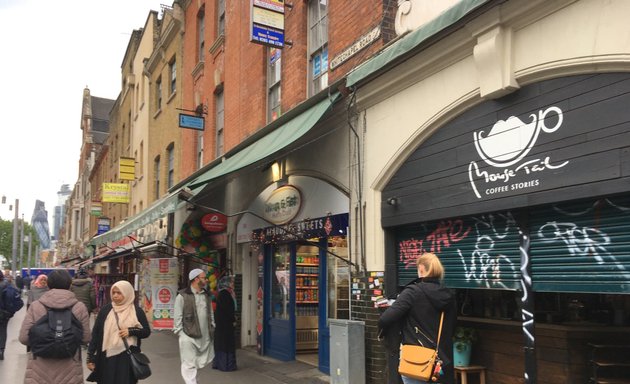
<path fill-rule="evenodd" d="M 176 192 L 157 200 L 149 208 L 128 218 L 122 224 L 103 234 L 93 237 L 92 240 L 90 240 L 90 244 L 98 246 L 99 244 L 107 244 L 112 241 L 120 240 L 125 236 L 131 235 L 137 229 L 142 228 L 145 225 L 168 215 L 169 213 L 175 212 L 177 206 L 181 202 L 179 192 L 180 190 L 177 190 Z"/>

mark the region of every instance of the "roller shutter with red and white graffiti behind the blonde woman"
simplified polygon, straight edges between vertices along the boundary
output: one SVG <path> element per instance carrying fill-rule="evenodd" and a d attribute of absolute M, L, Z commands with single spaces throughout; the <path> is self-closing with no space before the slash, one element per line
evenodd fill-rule
<path fill-rule="evenodd" d="M 434 252 L 451 288 L 519 288 L 518 228 L 509 212 L 407 225 L 395 238 L 399 285 L 417 277 L 419 254 Z"/>

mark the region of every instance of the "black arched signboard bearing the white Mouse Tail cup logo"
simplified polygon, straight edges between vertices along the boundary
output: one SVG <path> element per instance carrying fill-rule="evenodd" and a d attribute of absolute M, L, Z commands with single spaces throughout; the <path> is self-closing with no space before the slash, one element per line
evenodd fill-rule
<path fill-rule="evenodd" d="M 570 76 L 471 108 L 393 175 L 384 226 L 627 191 L 628 89 L 625 73 Z"/>

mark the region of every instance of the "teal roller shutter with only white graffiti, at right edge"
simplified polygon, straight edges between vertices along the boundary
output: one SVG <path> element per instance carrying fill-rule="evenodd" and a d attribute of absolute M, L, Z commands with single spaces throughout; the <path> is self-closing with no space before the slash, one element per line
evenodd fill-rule
<path fill-rule="evenodd" d="M 630 293 L 630 196 L 530 211 L 535 291 Z"/>

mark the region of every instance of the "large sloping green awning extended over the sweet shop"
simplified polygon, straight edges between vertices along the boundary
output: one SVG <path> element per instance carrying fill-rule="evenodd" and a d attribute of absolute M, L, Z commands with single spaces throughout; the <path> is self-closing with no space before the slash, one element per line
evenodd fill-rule
<path fill-rule="evenodd" d="M 289 120 L 279 128 L 268 133 L 266 136 L 238 151 L 236 154 L 225 159 L 223 162 L 210 168 L 205 173 L 192 180 L 188 184 L 188 187 L 196 189 L 200 186 L 204 186 L 217 177 L 237 171 L 262 160 L 267 156 L 273 155 L 277 151 L 302 137 L 306 132 L 313 128 L 313 126 L 319 121 L 319 119 L 322 118 L 324 113 L 332 107 L 338 98 L 338 93 L 332 95 L 330 98 L 325 98 L 318 104 Z"/>

